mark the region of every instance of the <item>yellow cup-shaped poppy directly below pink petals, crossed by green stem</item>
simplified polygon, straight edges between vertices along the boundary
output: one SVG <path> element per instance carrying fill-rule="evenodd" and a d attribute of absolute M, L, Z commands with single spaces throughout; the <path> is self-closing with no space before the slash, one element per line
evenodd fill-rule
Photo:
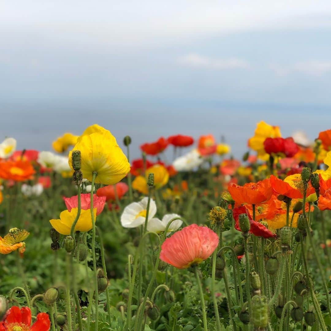
<path fill-rule="evenodd" d="M 72 208 L 69 212 L 68 210 L 63 211 L 60 214 L 60 219 L 51 219 L 50 223 L 53 228 L 61 234 L 69 235 L 71 232 L 71 226 L 77 216 L 78 208 Z M 96 219 L 97 209 L 93 208 L 94 219 Z M 81 210 L 78 221 L 75 225 L 74 230 L 80 232 L 86 232 L 92 229 L 92 218 L 91 211 Z"/>

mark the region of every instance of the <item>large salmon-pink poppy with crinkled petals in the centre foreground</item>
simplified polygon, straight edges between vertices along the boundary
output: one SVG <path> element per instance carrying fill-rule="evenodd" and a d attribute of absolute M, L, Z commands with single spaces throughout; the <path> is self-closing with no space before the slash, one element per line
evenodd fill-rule
<path fill-rule="evenodd" d="M 178 269 L 186 269 L 209 258 L 217 245 L 218 236 L 214 231 L 191 224 L 165 240 L 160 259 Z"/>

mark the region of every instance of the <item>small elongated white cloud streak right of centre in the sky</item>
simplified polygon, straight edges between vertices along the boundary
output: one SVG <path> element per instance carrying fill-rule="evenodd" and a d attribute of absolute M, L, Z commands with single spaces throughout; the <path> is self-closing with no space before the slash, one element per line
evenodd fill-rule
<path fill-rule="evenodd" d="M 230 58 L 230 59 L 213 59 L 195 53 L 190 53 L 178 58 L 178 63 L 191 68 L 206 68 L 206 69 L 248 69 L 249 63 L 245 60 Z"/>

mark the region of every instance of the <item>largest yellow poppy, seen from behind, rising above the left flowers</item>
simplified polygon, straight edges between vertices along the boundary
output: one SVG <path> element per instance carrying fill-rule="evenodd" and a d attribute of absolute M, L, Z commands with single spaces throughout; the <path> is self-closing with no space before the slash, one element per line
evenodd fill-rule
<path fill-rule="evenodd" d="M 80 170 L 83 177 L 89 181 L 92 181 L 92 173 L 96 172 L 96 183 L 113 185 L 130 171 L 130 164 L 118 146 L 115 137 L 103 128 L 94 133 L 80 136 L 73 150 L 80 151 Z M 73 170 L 71 153 L 72 151 L 69 153 L 69 165 Z"/>

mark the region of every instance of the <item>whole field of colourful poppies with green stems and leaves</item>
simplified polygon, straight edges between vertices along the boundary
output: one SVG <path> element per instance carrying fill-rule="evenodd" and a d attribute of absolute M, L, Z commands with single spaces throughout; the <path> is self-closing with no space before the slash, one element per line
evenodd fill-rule
<path fill-rule="evenodd" d="M 331 129 L 108 129 L 0 144 L 0 331 L 331 330 Z"/>

